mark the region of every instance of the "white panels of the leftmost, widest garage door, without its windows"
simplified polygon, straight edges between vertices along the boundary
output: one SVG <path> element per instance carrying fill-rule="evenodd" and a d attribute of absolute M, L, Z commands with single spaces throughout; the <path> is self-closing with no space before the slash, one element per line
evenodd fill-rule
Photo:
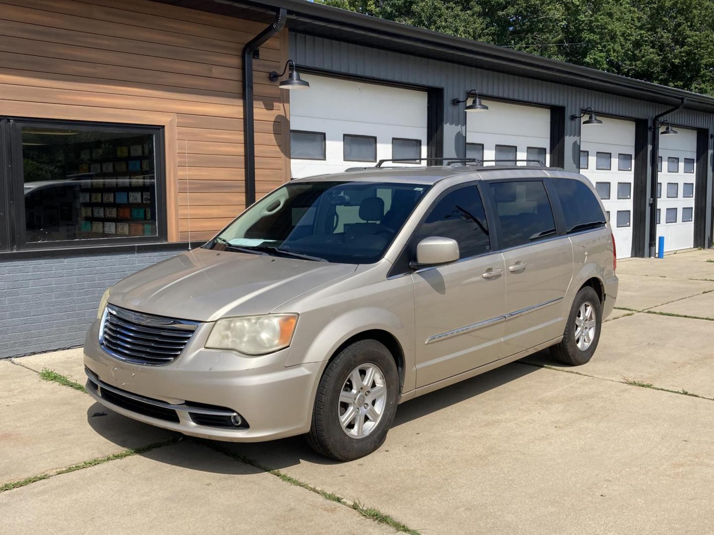
<path fill-rule="evenodd" d="M 291 159 L 293 178 L 375 165 L 344 160 L 345 134 L 375 136 L 377 160 L 392 157 L 392 138 L 418 139 L 421 157 L 426 158 L 426 91 L 314 74 L 301 78 L 310 83 L 310 88 L 291 91 L 290 128 L 325 133 L 326 158 Z"/>

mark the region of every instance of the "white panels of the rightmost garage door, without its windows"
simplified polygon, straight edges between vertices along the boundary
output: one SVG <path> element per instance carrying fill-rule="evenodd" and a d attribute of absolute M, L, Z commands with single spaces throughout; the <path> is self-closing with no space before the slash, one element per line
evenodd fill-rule
<path fill-rule="evenodd" d="M 694 212 L 694 197 L 684 197 L 685 183 L 694 184 L 696 169 L 692 173 L 684 172 L 685 158 L 695 161 L 697 158 L 697 131 L 690 128 L 676 127 L 676 136 L 660 135 L 660 153 L 662 157 L 662 170 L 658 175 L 658 182 L 662 185 L 661 197 L 657 200 L 657 208 L 660 210 L 660 224 L 657 225 L 657 235 L 664 236 L 665 250 L 672 251 L 678 249 L 688 249 L 694 246 L 694 218 L 691 221 L 683 221 L 683 209 L 692 208 Z M 668 170 L 668 158 L 679 158 L 678 170 L 670 173 Z M 667 185 L 677 184 L 677 197 L 668 198 Z M 677 222 L 666 223 L 667 208 L 677 210 Z"/>

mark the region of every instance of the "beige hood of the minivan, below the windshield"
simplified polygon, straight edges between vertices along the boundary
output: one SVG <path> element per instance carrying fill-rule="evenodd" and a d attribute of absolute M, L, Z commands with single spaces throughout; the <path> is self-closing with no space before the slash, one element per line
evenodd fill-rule
<path fill-rule="evenodd" d="M 267 314 L 357 265 L 195 249 L 111 287 L 113 305 L 183 320 Z"/>

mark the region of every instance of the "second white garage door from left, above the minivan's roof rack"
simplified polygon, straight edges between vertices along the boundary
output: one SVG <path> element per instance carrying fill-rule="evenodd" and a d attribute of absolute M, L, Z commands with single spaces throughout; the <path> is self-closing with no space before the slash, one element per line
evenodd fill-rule
<path fill-rule="evenodd" d="M 483 103 L 488 111 L 466 113 L 467 158 L 499 160 L 499 163 L 538 160 L 550 164 L 548 108 L 497 101 Z"/>

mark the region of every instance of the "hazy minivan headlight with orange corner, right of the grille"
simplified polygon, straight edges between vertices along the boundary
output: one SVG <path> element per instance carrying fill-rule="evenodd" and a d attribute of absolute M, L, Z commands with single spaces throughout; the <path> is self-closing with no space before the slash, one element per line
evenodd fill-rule
<path fill-rule="evenodd" d="M 297 314 L 225 317 L 213 325 L 206 347 L 265 355 L 290 345 L 297 322 Z"/>

